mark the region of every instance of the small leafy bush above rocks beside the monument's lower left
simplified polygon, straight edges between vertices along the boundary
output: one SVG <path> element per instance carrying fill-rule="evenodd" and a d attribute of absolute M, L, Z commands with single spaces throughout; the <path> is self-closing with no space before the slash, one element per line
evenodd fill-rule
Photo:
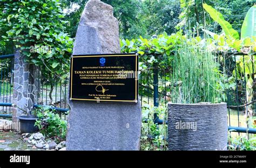
<path fill-rule="evenodd" d="M 51 108 L 36 110 L 38 119 L 35 125 L 45 137 L 53 138 L 60 142 L 66 138 L 67 122 L 62 120 Z"/>

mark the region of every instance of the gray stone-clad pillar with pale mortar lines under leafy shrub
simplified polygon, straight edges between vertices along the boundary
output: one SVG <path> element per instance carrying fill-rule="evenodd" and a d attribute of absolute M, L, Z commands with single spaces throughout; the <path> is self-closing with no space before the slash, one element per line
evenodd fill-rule
<path fill-rule="evenodd" d="M 25 56 L 19 50 L 15 53 L 14 58 L 14 88 L 13 102 L 19 108 L 29 113 L 37 99 L 38 86 L 38 68 L 25 61 Z M 21 116 L 22 110 L 12 107 L 12 121 L 17 121 Z"/>

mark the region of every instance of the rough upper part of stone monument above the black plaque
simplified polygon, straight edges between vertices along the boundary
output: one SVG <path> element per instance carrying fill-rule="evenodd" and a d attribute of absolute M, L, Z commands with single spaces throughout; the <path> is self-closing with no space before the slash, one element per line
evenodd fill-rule
<path fill-rule="evenodd" d="M 74 49 L 73 55 L 120 53 L 119 23 L 113 16 L 112 6 L 99 0 L 91 0 L 86 4 Z"/>

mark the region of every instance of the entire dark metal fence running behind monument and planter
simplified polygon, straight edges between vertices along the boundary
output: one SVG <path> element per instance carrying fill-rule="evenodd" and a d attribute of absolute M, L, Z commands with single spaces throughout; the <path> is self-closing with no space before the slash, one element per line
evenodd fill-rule
<path fill-rule="evenodd" d="M 222 55 L 225 58 L 225 66 L 222 65 L 222 69 L 220 70 L 225 71 L 225 74 L 228 76 L 234 76 L 235 78 L 235 89 L 227 90 L 227 124 L 229 125 L 229 129 L 237 132 L 256 134 L 255 128 L 249 128 L 253 123 L 249 124 L 247 120 L 248 117 L 251 117 L 253 118 L 252 121 L 255 122 L 256 92 L 254 93 L 253 90 L 256 88 L 256 80 L 254 79 L 255 56 L 248 56 L 243 53 L 218 53 L 218 55 L 219 57 Z M 238 59 L 243 60 L 239 67 L 236 64 Z M 140 58 L 140 61 L 143 60 Z M 154 107 L 158 107 L 159 104 L 160 106 L 166 106 L 166 103 L 170 99 L 168 92 L 171 90 L 170 85 L 166 85 L 167 82 L 170 82 L 169 79 L 166 79 L 167 67 L 168 65 L 164 65 L 158 68 L 157 63 L 155 63 L 152 67 L 147 68 L 146 71 L 140 72 L 139 95 L 142 107 L 145 104 L 150 104 Z M 14 54 L 0 56 L 0 117 L 10 117 L 11 115 L 13 70 Z M 62 79 L 60 76 L 51 72 L 45 72 L 47 72 L 45 71 L 45 66 L 39 67 L 39 75 L 37 77 L 39 79 L 38 99 L 34 107 L 51 106 L 65 120 L 69 111 L 67 103 L 69 79 Z M 68 74 L 68 72 L 66 73 Z M 251 95 L 253 96 L 249 97 L 249 99 L 247 95 L 248 79 L 253 81 L 251 89 L 251 92 L 253 92 Z M 144 121 L 146 122 L 146 120 Z M 158 116 L 157 114 L 153 115 L 153 121 L 158 124 L 167 122 L 166 116 Z"/>

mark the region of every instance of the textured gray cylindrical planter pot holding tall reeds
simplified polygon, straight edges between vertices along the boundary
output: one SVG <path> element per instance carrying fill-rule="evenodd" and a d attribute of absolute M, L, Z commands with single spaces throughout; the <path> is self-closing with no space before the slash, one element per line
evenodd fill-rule
<path fill-rule="evenodd" d="M 169 150 L 226 150 L 227 104 L 168 104 Z"/>

